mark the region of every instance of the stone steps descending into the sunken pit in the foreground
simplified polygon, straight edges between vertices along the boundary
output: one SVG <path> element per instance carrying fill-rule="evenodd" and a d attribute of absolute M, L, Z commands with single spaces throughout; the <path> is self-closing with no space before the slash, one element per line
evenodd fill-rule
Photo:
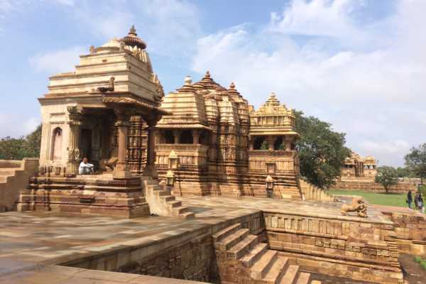
<path fill-rule="evenodd" d="M 258 236 L 241 224 L 214 234 L 213 241 L 221 283 L 321 284 L 278 251 L 268 249 L 268 244 L 259 243 Z"/>

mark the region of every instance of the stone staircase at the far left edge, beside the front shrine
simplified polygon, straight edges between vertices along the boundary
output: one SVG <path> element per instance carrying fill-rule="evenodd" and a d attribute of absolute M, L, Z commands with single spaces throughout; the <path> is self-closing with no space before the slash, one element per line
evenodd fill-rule
<path fill-rule="evenodd" d="M 19 191 L 28 186 L 28 179 L 35 175 L 38 159 L 0 160 L 0 212 L 16 208 Z"/>

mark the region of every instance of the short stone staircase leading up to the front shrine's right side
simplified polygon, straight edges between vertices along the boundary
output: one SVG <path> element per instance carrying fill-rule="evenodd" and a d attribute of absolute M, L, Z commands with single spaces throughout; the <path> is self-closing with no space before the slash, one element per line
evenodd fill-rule
<path fill-rule="evenodd" d="M 180 219 L 192 219 L 194 212 L 190 212 L 188 207 L 182 206 L 181 201 L 177 201 L 164 185 L 160 185 L 157 180 L 151 177 L 142 176 L 143 193 L 149 204 L 151 214 L 158 214 L 165 217 L 178 217 Z"/>

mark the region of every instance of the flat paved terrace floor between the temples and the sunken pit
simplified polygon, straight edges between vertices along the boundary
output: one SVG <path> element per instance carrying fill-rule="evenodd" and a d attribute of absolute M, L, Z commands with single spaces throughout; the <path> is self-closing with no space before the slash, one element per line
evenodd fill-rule
<path fill-rule="evenodd" d="M 256 197 L 239 199 L 179 197 L 178 200 L 196 213 L 195 219 L 171 217 L 117 219 L 54 212 L 0 213 L 0 279 L 2 275 L 9 275 L 10 278 L 11 274 L 16 273 L 20 273 L 19 277 L 22 277 L 20 279 L 24 279 L 30 273 L 28 269 L 33 271 L 40 265 L 70 263 L 111 251 L 148 247 L 182 236 L 190 237 L 190 233 L 197 230 L 210 229 L 212 225 L 255 214 L 261 210 L 392 224 L 373 207 L 368 207 L 370 216 L 368 219 L 342 216 L 340 214 L 342 203 L 338 202 L 304 202 Z M 60 279 L 65 281 L 64 278 Z M 66 280 L 71 281 L 69 283 L 87 282 Z"/>

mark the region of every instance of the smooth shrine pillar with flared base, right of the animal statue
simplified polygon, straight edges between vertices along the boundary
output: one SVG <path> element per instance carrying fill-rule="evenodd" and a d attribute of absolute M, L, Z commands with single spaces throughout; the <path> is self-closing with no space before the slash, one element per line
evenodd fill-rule
<path fill-rule="evenodd" d="M 117 157 L 117 165 L 114 168 L 112 176 L 117 179 L 131 178 L 131 173 L 126 161 L 130 116 L 125 114 L 124 111 L 116 111 L 116 115 L 117 121 L 115 126 L 117 126 L 117 130 L 119 132 L 119 154 Z"/>

